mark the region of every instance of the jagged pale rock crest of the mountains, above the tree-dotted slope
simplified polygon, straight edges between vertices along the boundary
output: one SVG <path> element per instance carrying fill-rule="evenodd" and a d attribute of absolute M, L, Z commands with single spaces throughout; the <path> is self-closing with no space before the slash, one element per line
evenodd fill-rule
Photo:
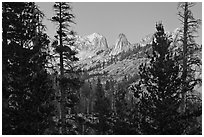
<path fill-rule="evenodd" d="M 176 29 L 174 32 L 169 33 L 166 32 L 167 35 L 171 35 L 173 39 L 178 39 L 177 35 L 179 30 Z M 121 52 L 126 52 L 128 50 L 132 50 L 137 46 L 145 47 L 147 44 L 151 44 L 153 41 L 153 34 L 149 34 L 145 36 L 138 44 L 130 44 L 130 42 L 127 40 L 125 34 L 121 33 L 119 34 L 118 38 L 116 39 L 116 43 L 113 46 L 108 46 L 107 40 L 104 36 L 93 33 L 91 35 L 87 36 L 77 36 L 77 50 L 78 55 L 77 57 L 80 60 L 84 60 L 86 58 L 92 58 L 94 56 L 103 56 L 103 51 L 108 54 L 108 56 L 115 56 L 120 54 Z M 105 54 L 105 53 L 104 53 Z"/>

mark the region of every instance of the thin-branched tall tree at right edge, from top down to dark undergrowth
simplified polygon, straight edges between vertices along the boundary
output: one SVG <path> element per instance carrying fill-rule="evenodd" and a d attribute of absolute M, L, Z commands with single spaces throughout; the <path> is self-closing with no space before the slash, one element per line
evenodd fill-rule
<path fill-rule="evenodd" d="M 191 119 L 189 120 L 191 124 L 188 125 L 185 134 L 202 134 L 202 126 L 199 124 L 201 120 L 197 120 L 197 117 L 202 116 L 202 99 L 196 91 L 202 82 L 202 46 L 195 41 L 201 20 L 193 17 L 191 8 L 195 4 L 190 2 L 178 4 L 178 15 L 182 24 L 181 39 L 179 39 L 182 45 L 178 48 L 182 66 L 182 104 L 180 110 L 184 118 Z"/>

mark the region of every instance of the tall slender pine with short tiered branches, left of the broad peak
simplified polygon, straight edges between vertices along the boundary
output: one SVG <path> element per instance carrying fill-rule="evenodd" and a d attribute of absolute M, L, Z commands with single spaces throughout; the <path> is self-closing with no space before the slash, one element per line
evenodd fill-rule
<path fill-rule="evenodd" d="M 74 15 L 70 12 L 71 6 L 67 2 L 56 2 L 54 4 L 55 16 L 52 21 L 57 23 L 58 30 L 56 40 L 52 43 L 55 52 L 60 56 L 60 116 L 59 134 L 69 133 L 66 125 L 66 115 L 74 111 L 78 102 L 78 89 L 80 80 L 78 73 L 74 71 L 71 63 L 77 61 L 76 52 L 72 50 L 74 46 L 74 32 L 69 29 L 70 24 L 74 23 Z M 58 42 L 59 41 L 59 42 Z M 59 44 L 58 44 L 59 43 Z"/>

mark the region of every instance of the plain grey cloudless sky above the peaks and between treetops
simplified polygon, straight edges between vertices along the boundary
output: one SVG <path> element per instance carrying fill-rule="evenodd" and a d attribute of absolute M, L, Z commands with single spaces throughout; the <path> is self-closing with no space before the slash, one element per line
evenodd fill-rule
<path fill-rule="evenodd" d="M 54 14 L 53 3 L 38 2 L 45 13 L 44 24 L 50 37 L 55 34 L 55 25 L 48 18 Z M 162 21 L 166 31 L 181 27 L 178 20 L 176 2 L 73 2 L 73 14 L 76 25 L 72 25 L 79 35 L 94 32 L 107 38 L 109 44 L 115 44 L 119 33 L 124 33 L 130 43 L 139 42 L 146 35 L 155 32 L 155 23 Z M 202 3 L 192 8 L 195 18 L 202 19 Z M 199 29 L 198 43 L 201 43 L 202 28 Z"/>

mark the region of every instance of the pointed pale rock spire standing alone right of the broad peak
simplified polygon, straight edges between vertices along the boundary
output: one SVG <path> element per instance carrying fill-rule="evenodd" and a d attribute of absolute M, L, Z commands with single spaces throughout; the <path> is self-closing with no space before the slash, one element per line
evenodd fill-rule
<path fill-rule="evenodd" d="M 126 51 L 130 48 L 130 42 L 127 40 L 125 34 L 121 33 L 116 40 L 115 47 L 113 47 L 110 55 L 117 55 L 122 51 Z"/>

